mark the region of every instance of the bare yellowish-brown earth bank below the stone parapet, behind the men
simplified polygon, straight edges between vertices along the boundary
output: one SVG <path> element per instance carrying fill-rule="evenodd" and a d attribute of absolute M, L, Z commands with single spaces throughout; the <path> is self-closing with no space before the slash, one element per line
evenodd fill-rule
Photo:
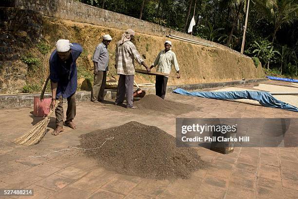
<path fill-rule="evenodd" d="M 82 87 L 82 89 L 85 89 L 88 85 L 90 86 L 90 83 L 93 81 L 93 63 L 91 57 L 94 48 L 101 41 L 101 36 L 104 34 L 110 34 L 113 38 L 109 45 L 110 73 L 108 76 L 116 75 L 114 69 L 115 44 L 120 40 L 123 32 L 124 30 L 121 29 L 70 20 L 49 17 L 44 17 L 43 19 L 42 34 L 51 46 L 55 46 L 55 41 L 58 39 L 69 39 L 71 42 L 77 42 L 83 46 L 84 51 L 77 60 L 78 83 L 79 88 Z M 159 51 L 164 49 L 165 40 L 167 40 L 166 37 L 136 33 L 134 43 L 141 56 L 146 58 L 145 62 L 150 65 L 155 60 Z M 172 50 L 176 53 L 182 78 L 170 78 L 168 85 L 220 82 L 241 80 L 242 78 L 262 78 L 264 76 L 261 66 L 256 68 L 251 59 L 232 54 L 225 50 L 190 44 L 183 41 L 172 40 L 172 43 Z M 136 67 L 142 68 L 139 65 Z M 174 72 L 173 68 L 172 73 Z M 138 83 L 154 82 L 154 79 L 154 76 L 135 75 L 135 80 Z"/>

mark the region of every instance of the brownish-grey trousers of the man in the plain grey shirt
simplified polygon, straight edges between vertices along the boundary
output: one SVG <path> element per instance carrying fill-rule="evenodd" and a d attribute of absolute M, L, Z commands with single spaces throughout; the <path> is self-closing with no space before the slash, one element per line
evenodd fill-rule
<path fill-rule="evenodd" d="M 107 71 L 97 71 L 94 74 L 93 88 L 91 92 L 91 101 L 103 101 L 106 87 Z"/>

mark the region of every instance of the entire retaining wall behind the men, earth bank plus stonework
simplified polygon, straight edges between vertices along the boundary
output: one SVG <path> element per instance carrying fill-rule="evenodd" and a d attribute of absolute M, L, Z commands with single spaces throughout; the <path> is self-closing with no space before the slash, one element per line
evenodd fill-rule
<path fill-rule="evenodd" d="M 68 39 L 82 44 L 84 53 L 78 59 L 78 65 L 81 66 L 81 70 L 90 72 L 90 66 L 93 67 L 90 58 L 94 45 L 100 40 L 100 34 L 109 32 L 113 37 L 109 47 L 110 73 L 115 75 L 113 67 L 115 42 L 120 40 L 122 29 L 127 28 L 140 33 L 137 37 L 138 51 L 147 57 L 148 63 L 155 60 L 155 56 L 163 48 L 164 36 L 168 34 L 226 49 L 173 40 L 175 50 L 185 49 L 177 54 L 180 71 L 185 76 L 179 80 L 170 79 L 168 85 L 253 79 L 263 76 L 261 67 L 256 68 L 249 57 L 239 56 L 241 54 L 223 45 L 77 1 L 0 0 L 0 6 L 6 6 L 0 7 L 0 93 L 19 93 L 26 82 L 32 85 L 40 83 L 39 73 L 37 77 L 34 74 L 30 80 L 30 67 L 20 61 L 21 56 L 28 54 L 30 48 L 30 52 L 42 60 L 44 57 L 40 58 L 41 54 L 36 54 L 38 51 L 36 44 L 39 40 L 55 46 L 56 40 L 64 38 L 65 35 Z M 86 78 L 86 74 L 83 78 Z M 138 78 L 139 83 L 154 81 L 151 77 L 138 76 Z M 34 80 L 38 82 L 33 82 Z"/>

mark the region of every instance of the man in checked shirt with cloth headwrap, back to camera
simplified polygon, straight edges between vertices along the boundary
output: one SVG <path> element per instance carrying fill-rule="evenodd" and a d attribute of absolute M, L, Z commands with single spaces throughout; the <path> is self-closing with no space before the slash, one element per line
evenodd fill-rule
<path fill-rule="evenodd" d="M 134 31 L 128 29 L 122 35 L 121 40 L 117 42 L 116 55 L 115 55 L 115 68 L 119 74 L 117 95 L 115 105 L 123 103 L 126 94 L 126 108 L 133 107 L 133 80 L 134 80 L 134 60 L 139 64 L 145 66 L 146 70 L 150 72 L 149 67 L 146 65 L 140 54 L 136 50 L 134 44 L 131 42 L 134 38 Z"/>

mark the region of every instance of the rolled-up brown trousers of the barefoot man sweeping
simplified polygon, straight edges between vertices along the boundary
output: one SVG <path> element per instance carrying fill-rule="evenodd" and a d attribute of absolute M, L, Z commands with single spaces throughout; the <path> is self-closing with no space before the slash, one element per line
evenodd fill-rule
<path fill-rule="evenodd" d="M 58 99 L 60 101 L 59 105 L 55 110 L 56 114 L 56 127 L 63 127 L 63 97 L 62 95 Z M 57 102 L 58 103 L 58 102 Z M 65 123 L 69 123 L 75 119 L 75 93 L 67 98 L 67 111 Z"/>

